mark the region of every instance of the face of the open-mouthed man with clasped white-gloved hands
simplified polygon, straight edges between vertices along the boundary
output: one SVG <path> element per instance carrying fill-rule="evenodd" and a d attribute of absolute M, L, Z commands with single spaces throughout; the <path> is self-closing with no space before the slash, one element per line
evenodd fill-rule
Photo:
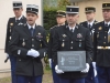
<path fill-rule="evenodd" d="M 28 12 L 26 13 L 26 20 L 28 20 L 28 23 L 30 24 L 30 25 L 33 25 L 34 23 L 35 23 L 35 20 L 38 18 L 38 15 L 37 14 L 35 14 L 35 13 L 31 13 L 31 12 Z"/>

